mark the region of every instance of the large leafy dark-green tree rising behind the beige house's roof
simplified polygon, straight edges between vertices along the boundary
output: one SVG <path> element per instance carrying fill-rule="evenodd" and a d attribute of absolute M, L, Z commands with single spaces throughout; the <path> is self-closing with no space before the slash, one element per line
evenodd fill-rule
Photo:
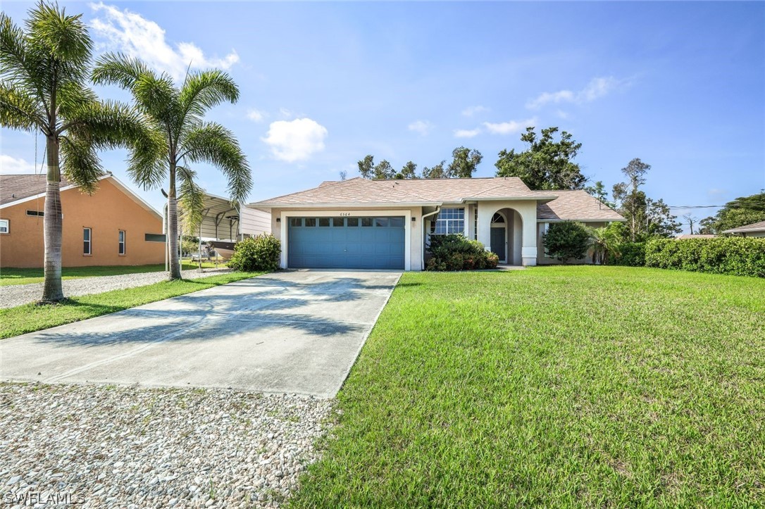
<path fill-rule="evenodd" d="M 500 151 L 496 161 L 497 177 L 519 177 L 532 190 L 582 189 L 587 179 L 579 165 L 572 162 L 581 148 L 566 131 L 561 132 L 560 141 L 554 141 L 557 127 L 542 129 L 542 138 L 537 139 L 534 128 L 526 128 L 521 141 L 529 144 L 526 151 L 516 153 L 515 149 Z"/>

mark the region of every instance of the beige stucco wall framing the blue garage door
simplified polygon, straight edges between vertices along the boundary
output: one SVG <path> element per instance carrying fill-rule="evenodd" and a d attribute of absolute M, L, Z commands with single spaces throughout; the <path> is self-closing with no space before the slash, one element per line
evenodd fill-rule
<path fill-rule="evenodd" d="M 289 249 L 286 239 L 282 238 L 287 232 L 287 217 L 340 217 L 343 213 L 350 212 L 352 216 L 399 216 L 405 213 L 406 238 L 409 241 L 409 255 L 405 254 L 405 263 L 409 271 L 422 271 L 422 207 L 391 206 L 389 208 L 373 207 L 343 207 L 308 209 L 301 207 L 279 208 L 271 210 L 271 232 L 282 241 L 282 268 L 287 266 L 287 251 Z M 378 213 L 379 212 L 379 213 Z M 412 221 L 414 218 L 414 221 Z"/>

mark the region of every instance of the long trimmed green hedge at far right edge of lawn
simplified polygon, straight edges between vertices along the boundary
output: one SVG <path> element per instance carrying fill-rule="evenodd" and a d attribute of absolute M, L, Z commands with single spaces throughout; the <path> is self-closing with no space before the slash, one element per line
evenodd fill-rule
<path fill-rule="evenodd" d="M 646 243 L 646 267 L 765 277 L 765 238 L 656 238 Z"/>

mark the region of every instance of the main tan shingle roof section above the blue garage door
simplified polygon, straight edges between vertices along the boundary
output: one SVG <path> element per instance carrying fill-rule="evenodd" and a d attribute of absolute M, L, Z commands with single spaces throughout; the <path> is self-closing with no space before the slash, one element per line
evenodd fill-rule
<path fill-rule="evenodd" d="M 251 203 L 258 207 L 326 205 L 441 205 L 474 199 L 554 199 L 517 177 L 326 181 L 313 189 Z"/>

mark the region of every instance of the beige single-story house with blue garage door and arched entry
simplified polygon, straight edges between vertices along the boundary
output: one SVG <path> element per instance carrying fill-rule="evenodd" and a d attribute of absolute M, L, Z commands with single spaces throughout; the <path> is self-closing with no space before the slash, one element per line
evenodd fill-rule
<path fill-rule="evenodd" d="M 428 238 L 446 233 L 477 239 L 500 263 L 558 263 L 542 248 L 552 223 L 624 220 L 584 191 L 532 191 L 516 177 L 353 178 L 249 206 L 271 212 L 283 268 L 421 271 Z"/>

